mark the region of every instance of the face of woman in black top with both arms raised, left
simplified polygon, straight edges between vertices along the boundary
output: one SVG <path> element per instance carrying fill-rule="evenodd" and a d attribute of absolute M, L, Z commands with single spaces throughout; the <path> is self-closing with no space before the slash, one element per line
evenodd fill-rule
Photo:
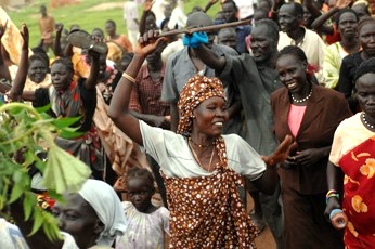
<path fill-rule="evenodd" d="M 51 80 L 56 91 L 65 91 L 70 86 L 73 74 L 62 63 L 55 63 L 51 67 Z"/>

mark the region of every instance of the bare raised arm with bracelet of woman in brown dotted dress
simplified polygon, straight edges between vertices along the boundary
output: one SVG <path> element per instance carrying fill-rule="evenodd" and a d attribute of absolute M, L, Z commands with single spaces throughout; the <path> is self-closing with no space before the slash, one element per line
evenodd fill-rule
<path fill-rule="evenodd" d="M 108 116 L 114 123 L 135 143 L 143 145 L 142 134 L 139 126 L 139 120 L 129 113 L 129 101 L 132 90 L 132 84 L 135 83 L 135 77 L 140 70 L 145 57 L 155 51 L 158 44 L 165 38 L 157 39 L 157 32 L 148 31 L 140 38 L 140 41 L 134 50 L 134 57 L 122 74 L 118 82 L 111 105 Z"/>

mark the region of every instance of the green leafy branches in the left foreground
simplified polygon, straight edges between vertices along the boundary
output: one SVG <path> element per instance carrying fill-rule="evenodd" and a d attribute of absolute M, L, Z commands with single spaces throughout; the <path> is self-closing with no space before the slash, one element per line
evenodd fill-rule
<path fill-rule="evenodd" d="M 54 136 L 69 134 L 69 126 L 77 118 L 53 119 L 41 113 L 47 109 L 35 109 L 23 103 L 0 106 L 0 213 L 9 204 L 22 201 L 25 220 L 34 221 L 30 235 L 42 227 L 49 239 L 54 240 L 61 238 L 57 222 L 37 206 L 28 168 L 35 163 L 43 173 L 44 186 L 59 199 L 64 191 L 78 191 L 91 172 L 83 162 L 54 144 Z M 49 148 L 47 161 L 36 154 L 43 149 L 40 144 Z"/>

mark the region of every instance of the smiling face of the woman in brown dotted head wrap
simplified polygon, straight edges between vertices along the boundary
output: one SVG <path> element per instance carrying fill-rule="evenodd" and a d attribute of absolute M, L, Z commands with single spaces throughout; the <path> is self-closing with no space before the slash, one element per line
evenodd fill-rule
<path fill-rule="evenodd" d="M 202 102 L 194 110 L 193 129 L 209 136 L 218 136 L 229 118 L 227 102 L 212 96 Z"/>

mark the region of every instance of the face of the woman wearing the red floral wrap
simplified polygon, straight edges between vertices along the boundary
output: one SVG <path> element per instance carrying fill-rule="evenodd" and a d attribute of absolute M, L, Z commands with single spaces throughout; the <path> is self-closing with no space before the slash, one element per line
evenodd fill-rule
<path fill-rule="evenodd" d="M 357 100 L 366 116 L 375 119 L 375 74 L 361 76 L 355 83 Z"/>

